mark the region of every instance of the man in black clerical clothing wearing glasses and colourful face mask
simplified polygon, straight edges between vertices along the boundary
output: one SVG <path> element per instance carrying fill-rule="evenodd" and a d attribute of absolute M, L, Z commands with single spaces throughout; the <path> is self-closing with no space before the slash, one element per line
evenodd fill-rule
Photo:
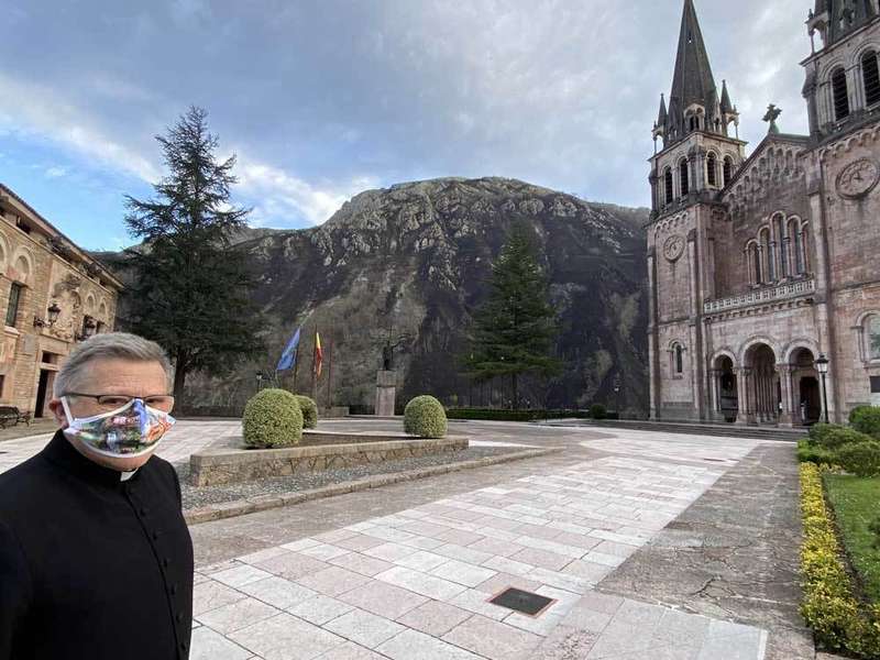
<path fill-rule="evenodd" d="M 153 455 L 174 424 L 170 373 L 121 332 L 57 373 L 59 430 L 0 474 L 0 660 L 188 658 L 193 543 L 177 474 Z"/>

